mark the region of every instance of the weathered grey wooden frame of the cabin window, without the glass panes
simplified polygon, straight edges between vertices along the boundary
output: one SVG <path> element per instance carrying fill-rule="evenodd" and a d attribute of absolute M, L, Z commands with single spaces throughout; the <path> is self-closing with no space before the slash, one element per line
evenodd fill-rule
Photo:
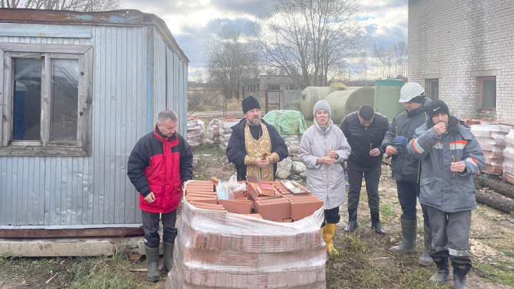
<path fill-rule="evenodd" d="M 13 140 L 13 58 L 42 58 L 40 140 Z M 51 61 L 78 60 L 77 140 L 50 140 Z M 92 63 L 90 45 L 0 42 L 0 156 L 91 156 Z"/>

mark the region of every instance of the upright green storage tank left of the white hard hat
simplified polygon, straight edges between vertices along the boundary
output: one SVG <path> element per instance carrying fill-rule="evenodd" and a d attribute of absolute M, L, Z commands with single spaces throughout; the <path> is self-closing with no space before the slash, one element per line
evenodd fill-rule
<path fill-rule="evenodd" d="M 390 122 L 393 117 L 405 110 L 404 104 L 398 101 L 402 86 L 404 86 L 404 81 L 400 79 L 377 79 L 375 81 L 375 111 L 385 115 Z"/>

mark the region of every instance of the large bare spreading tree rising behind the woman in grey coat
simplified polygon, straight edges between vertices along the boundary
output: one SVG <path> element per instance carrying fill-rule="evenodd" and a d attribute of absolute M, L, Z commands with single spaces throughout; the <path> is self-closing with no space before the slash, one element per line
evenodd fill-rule
<path fill-rule="evenodd" d="M 253 26 L 263 64 L 299 87 L 326 85 L 363 47 L 356 12 L 350 0 L 274 0 Z"/>

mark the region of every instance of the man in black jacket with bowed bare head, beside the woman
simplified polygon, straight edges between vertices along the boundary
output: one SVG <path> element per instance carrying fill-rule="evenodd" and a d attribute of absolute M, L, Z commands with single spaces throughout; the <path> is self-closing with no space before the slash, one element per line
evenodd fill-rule
<path fill-rule="evenodd" d="M 339 128 L 351 147 L 347 160 L 348 183 L 348 226 L 345 231 L 354 231 L 357 224 L 357 206 L 363 175 L 366 181 L 367 204 L 370 206 L 371 227 L 379 234 L 385 234 L 380 224 L 379 181 L 382 172 L 381 143 L 388 129 L 388 119 L 375 113 L 371 106 L 361 106 L 359 111 L 342 119 Z"/>

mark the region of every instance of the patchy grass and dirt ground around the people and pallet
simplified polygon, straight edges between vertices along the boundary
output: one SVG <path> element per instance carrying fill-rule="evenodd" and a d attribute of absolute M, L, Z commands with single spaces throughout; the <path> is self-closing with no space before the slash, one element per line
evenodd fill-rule
<path fill-rule="evenodd" d="M 233 112 L 237 115 L 238 112 Z M 197 113 L 202 117 L 202 120 L 208 124 L 209 118 L 219 115 L 219 113 L 204 112 Z M 193 149 L 193 154 L 198 160 L 197 165 L 194 166 L 194 179 L 208 179 L 210 176 L 217 176 L 220 179 L 229 179 L 231 175 L 235 174 L 235 167 L 233 164 L 226 160 L 224 152 L 217 147 L 208 147 L 204 145 L 199 148 Z M 416 270 L 424 270 L 427 276 L 435 271 L 435 266 L 420 267 L 417 265 L 417 258 L 420 251 L 411 254 L 406 259 L 410 263 L 406 265 L 405 258 L 401 259 L 397 255 L 392 254 L 389 248 L 401 240 L 401 228 L 399 223 L 399 216 L 401 209 L 397 200 L 397 191 L 395 181 L 390 177 L 390 167 L 383 165 L 383 174 L 379 184 L 379 195 L 381 202 L 381 222 L 383 228 L 386 229 L 388 234 L 380 236 L 370 229 L 370 213 L 367 206 L 367 197 L 365 190 L 361 192 L 360 203 L 358 206 L 358 223 L 359 227 L 356 230 L 356 235 L 361 240 L 372 240 L 375 250 L 373 260 L 377 265 L 390 265 L 398 264 L 399 266 L 412 266 Z M 386 213 L 387 211 L 387 213 Z M 334 238 L 336 247 L 344 247 L 342 244 L 345 240 L 346 233 L 344 228 L 347 225 L 347 208 L 345 205 L 341 206 L 341 222 L 338 224 L 337 236 Z M 418 204 L 418 229 L 423 227 L 421 208 Z M 417 249 L 422 248 L 422 232 L 418 232 L 417 236 Z M 489 208 L 488 206 L 479 205 L 472 213 L 472 229 L 470 233 L 470 253 L 474 267 L 468 275 L 467 284 L 472 289 L 514 289 L 514 224 L 509 222 L 508 215 L 501 213 L 498 210 Z M 399 260 L 399 261 L 398 261 Z M 2 264 L 3 262 L 3 264 Z M 90 272 L 75 272 L 69 273 L 69 268 L 74 268 L 76 265 L 92 262 L 89 265 L 83 265 L 84 270 L 92 268 Z M 334 263 L 346 262 L 351 264 L 349 260 L 331 261 L 327 265 L 327 279 L 331 273 L 331 266 L 337 265 Z M 395 263 L 396 262 L 396 263 Z M 127 275 L 128 282 L 133 282 L 132 286 L 110 286 L 106 288 L 164 288 L 166 276 L 163 275 L 158 283 L 148 283 L 145 281 L 146 272 L 137 272 L 138 269 L 146 268 L 144 257 L 135 260 L 112 260 L 109 257 L 97 257 L 88 259 L 81 258 L 48 258 L 48 259 L 33 259 L 33 258 L 19 258 L 13 261 L 0 258 L 0 288 L 96 288 L 94 286 L 78 287 L 74 286 L 77 282 L 77 276 L 83 274 L 85 280 L 91 279 L 92 276 L 98 274 L 98 268 L 103 263 L 108 263 L 108 266 L 114 271 L 113 275 L 106 275 L 107 279 L 116 279 L 117 273 L 123 272 Z M 162 262 L 161 262 L 162 263 Z M 122 265 L 119 265 L 122 264 Z M 161 264 L 162 265 L 162 264 Z M 358 264 L 357 264 L 358 265 Z M 5 267 L 1 267 L 5 266 Z M 6 268 L 14 269 L 5 270 Z M 19 267 L 19 270 L 17 269 Z M 41 269 L 47 272 L 42 272 Z M 27 269 L 28 268 L 28 269 Z M 418 269 L 421 268 L 421 269 Z M 76 270 L 80 271 L 80 270 Z M 134 272 L 135 271 L 135 272 Z M 14 273 L 13 273 L 14 272 Z M 60 276 L 56 276 L 49 284 L 45 283 L 51 276 L 61 272 Z M 14 274 L 14 275 L 13 275 Z M 450 275 L 451 276 L 451 275 Z M 504 283 L 510 286 L 502 285 L 499 283 L 497 276 L 504 276 Z M 67 279 L 66 279 L 67 278 Z M 103 275 L 102 275 L 103 278 Z M 344 277 L 342 277 L 344 278 Z M 52 286 L 53 284 L 53 286 Z M 60 285 L 63 284 L 63 285 Z M 135 284 L 135 285 L 134 285 Z M 85 285 L 85 284 L 84 284 Z M 449 288 L 451 280 L 447 281 L 447 286 L 439 286 L 437 288 Z M 376 287 L 376 286 L 375 286 Z M 327 282 L 327 288 L 375 288 L 370 286 L 335 286 L 333 283 Z M 383 287 L 388 288 L 388 287 Z M 395 286 L 394 288 L 404 288 Z M 416 287 L 420 288 L 420 287 Z M 429 287 L 436 288 L 436 287 Z"/>

